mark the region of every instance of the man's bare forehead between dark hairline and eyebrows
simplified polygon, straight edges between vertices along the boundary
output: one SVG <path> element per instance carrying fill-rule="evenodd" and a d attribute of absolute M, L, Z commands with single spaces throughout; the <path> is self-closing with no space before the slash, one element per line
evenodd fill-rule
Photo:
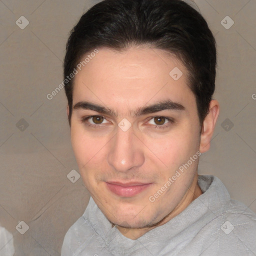
<path fill-rule="evenodd" d="M 168 99 L 194 104 L 187 70 L 181 61 L 166 51 L 149 47 L 121 52 L 99 48 L 78 70 L 73 84 L 73 104 L 89 100 L 116 111 Z"/>

